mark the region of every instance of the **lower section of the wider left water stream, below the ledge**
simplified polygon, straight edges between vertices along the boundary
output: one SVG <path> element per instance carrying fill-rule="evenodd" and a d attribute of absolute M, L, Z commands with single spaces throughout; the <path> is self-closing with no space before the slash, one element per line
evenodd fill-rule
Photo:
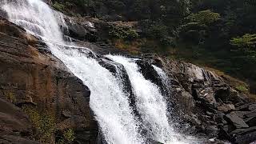
<path fill-rule="evenodd" d="M 128 97 L 117 78 L 79 50 L 53 49 L 54 54 L 90 87 L 90 107 L 108 143 L 142 143 Z"/>

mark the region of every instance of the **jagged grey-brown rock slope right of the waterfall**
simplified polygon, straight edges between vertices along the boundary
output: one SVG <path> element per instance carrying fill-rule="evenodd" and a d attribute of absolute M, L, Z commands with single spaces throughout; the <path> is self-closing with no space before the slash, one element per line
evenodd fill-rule
<path fill-rule="evenodd" d="M 183 132 L 234 143 L 256 141 L 255 100 L 234 90 L 222 76 L 209 70 L 152 54 L 142 57 L 147 63 L 144 66 L 154 64 L 168 74 L 170 94 L 166 99 L 175 117 L 183 123 Z M 159 83 L 152 77 L 152 82 Z"/>

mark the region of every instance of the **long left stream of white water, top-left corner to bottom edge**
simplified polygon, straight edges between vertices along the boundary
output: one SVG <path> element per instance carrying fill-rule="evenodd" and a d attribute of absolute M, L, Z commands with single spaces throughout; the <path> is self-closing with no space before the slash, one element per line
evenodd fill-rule
<path fill-rule="evenodd" d="M 87 58 L 86 49 L 83 50 L 85 53 L 81 53 L 81 50 L 66 46 L 54 11 L 46 3 L 41 0 L 6 1 L 2 9 L 6 10 L 11 22 L 45 40 L 51 52 L 89 86 L 90 107 L 106 142 L 142 143 L 127 94 L 118 85 L 117 78 L 95 59 Z"/>

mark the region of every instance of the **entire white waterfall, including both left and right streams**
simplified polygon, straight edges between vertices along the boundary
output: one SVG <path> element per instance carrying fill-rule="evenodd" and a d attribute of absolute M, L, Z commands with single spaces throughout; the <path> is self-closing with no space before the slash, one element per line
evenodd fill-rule
<path fill-rule="evenodd" d="M 6 10 L 10 22 L 46 42 L 51 53 L 90 88 L 90 108 L 107 143 L 146 143 L 146 138 L 158 142 L 184 143 L 179 140 L 183 139 L 181 135 L 175 133 L 170 125 L 166 102 L 158 86 L 143 77 L 134 59 L 107 56 L 125 67 L 142 123 L 134 116 L 121 77 L 101 66 L 90 50 L 65 42 L 58 24 L 58 18 L 61 18 L 65 26 L 62 15 L 55 13 L 41 0 L 5 0 L 0 5 L 2 10 Z M 140 133 L 141 125 L 146 129 L 146 135 Z"/>

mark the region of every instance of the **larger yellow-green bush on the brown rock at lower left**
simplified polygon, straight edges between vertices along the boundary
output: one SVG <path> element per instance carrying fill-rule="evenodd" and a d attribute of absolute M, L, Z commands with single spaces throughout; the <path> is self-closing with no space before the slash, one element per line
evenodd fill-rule
<path fill-rule="evenodd" d="M 30 121 L 36 129 L 38 142 L 51 142 L 56 130 L 55 118 L 47 111 L 38 111 L 34 106 L 22 106 L 22 110 L 29 115 Z"/>

